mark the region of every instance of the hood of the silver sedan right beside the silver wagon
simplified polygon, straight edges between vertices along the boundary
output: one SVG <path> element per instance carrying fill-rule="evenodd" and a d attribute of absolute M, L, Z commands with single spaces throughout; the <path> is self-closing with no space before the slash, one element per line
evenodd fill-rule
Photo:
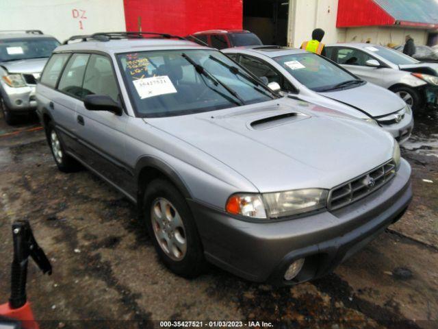
<path fill-rule="evenodd" d="M 405 106 L 404 101 L 396 94 L 370 82 L 355 88 L 319 94 L 359 108 L 370 115 L 370 117 L 381 117 L 385 114 L 394 113 Z"/>

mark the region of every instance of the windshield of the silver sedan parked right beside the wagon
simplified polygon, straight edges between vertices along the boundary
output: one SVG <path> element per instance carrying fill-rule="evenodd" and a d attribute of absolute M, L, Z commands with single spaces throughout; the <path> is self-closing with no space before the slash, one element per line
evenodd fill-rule
<path fill-rule="evenodd" d="M 274 57 L 273 60 L 298 82 L 314 91 L 331 90 L 352 80 L 361 83 L 354 75 L 314 53 L 296 53 Z"/>

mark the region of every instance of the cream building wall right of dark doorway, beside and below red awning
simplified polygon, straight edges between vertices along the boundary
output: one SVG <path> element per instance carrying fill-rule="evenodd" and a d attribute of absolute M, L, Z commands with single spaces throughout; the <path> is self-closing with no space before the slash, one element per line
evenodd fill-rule
<path fill-rule="evenodd" d="M 428 31 L 404 27 L 348 27 L 338 29 L 338 0 L 290 0 L 289 24 L 287 40 L 292 47 L 300 47 L 301 43 L 311 38 L 316 27 L 326 32 L 323 42 L 366 42 L 380 45 L 402 45 L 404 37 L 411 34 L 416 45 L 426 45 Z"/>

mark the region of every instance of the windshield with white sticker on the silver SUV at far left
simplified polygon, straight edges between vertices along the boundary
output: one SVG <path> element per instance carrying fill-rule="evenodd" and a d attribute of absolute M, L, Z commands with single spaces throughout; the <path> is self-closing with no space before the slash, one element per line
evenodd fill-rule
<path fill-rule="evenodd" d="M 55 38 L 0 39 L 0 62 L 49 58 L 60 42 Z"/>

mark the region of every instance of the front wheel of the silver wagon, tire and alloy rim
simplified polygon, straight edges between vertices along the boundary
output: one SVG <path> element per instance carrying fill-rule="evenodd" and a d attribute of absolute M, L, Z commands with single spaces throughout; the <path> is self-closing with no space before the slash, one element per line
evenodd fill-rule
<path fill-rule="evenodd" d="M 142 218 L 159 258 L 170 271 L 183 278 L 196 278 L 203 271 L 201 239 L 190 208 L 175 186 L 161 178 L 148 184 Z"/>

